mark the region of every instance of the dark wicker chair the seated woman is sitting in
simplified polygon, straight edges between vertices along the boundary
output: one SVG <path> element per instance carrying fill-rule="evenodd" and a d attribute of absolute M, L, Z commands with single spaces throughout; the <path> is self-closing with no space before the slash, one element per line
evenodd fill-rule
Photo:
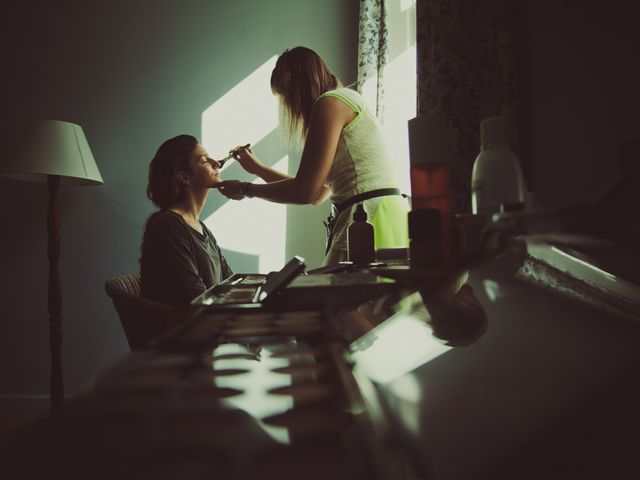
<path fill-rule="evenodd" d="M 144 348 L 149 341 L 187 318 L 184 310 L 140 297 L 140 275 L 137 273 L 111 277 L 104 289 L 113 300 L 132 350 Z"/>

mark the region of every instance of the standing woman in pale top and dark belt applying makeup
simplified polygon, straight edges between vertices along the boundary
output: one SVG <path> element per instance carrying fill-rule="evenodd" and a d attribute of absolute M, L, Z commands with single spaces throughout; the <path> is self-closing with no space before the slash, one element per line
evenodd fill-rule
<path fill-rule="evenodd" d="M 329 196 L 325 265 L 347 260 L 347 227 L 363 203 L 375 228 L 375 247 L 408 244 L 409 205 L 395 181 L 380 124 L 364 99 L 345 88 L 313 50 L 285 51 L 271 73 L 290 138 L 304 142 L 295 176 L 264 165 L 250 148 L 238 148 L 235 158 L 266 184 L 228 180 L 218 185 L 229 198 L 259 197 L 279 203 L 318 205 Z"/>

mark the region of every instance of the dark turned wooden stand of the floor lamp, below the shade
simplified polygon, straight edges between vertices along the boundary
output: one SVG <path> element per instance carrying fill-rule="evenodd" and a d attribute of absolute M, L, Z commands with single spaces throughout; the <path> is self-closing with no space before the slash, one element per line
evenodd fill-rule
<path fill-rule="evenodd" d="M 62 294 L 60 289 L 60 209 L 58 190 L 60 177 L 48 175 L 49 204 L 47 208 L 47 256 L 49 258 L 49 349 L 51 350 L 51 377 L 49 394 L 56 411 L 64 400 L 62 379 Z"/>

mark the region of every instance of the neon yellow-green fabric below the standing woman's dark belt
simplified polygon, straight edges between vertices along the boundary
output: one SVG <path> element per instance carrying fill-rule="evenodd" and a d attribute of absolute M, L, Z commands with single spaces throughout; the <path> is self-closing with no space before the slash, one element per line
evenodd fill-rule
<path fill-rule="evenodd" d="M 374 228 L 376 249 L 409 246 L 408 213 L 409 203 L 404 197 L 382 197 L 375 215 L 369 220 Z"/>

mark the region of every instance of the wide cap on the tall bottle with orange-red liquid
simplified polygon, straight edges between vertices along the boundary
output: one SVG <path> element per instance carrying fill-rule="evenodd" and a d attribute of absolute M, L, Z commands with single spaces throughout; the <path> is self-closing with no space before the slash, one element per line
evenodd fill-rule
<path fill-rule="evenodd" d="M 409 120 L 409 162 L 411 165 L 449 163 L 449 129 L 435 113 Z"/>

